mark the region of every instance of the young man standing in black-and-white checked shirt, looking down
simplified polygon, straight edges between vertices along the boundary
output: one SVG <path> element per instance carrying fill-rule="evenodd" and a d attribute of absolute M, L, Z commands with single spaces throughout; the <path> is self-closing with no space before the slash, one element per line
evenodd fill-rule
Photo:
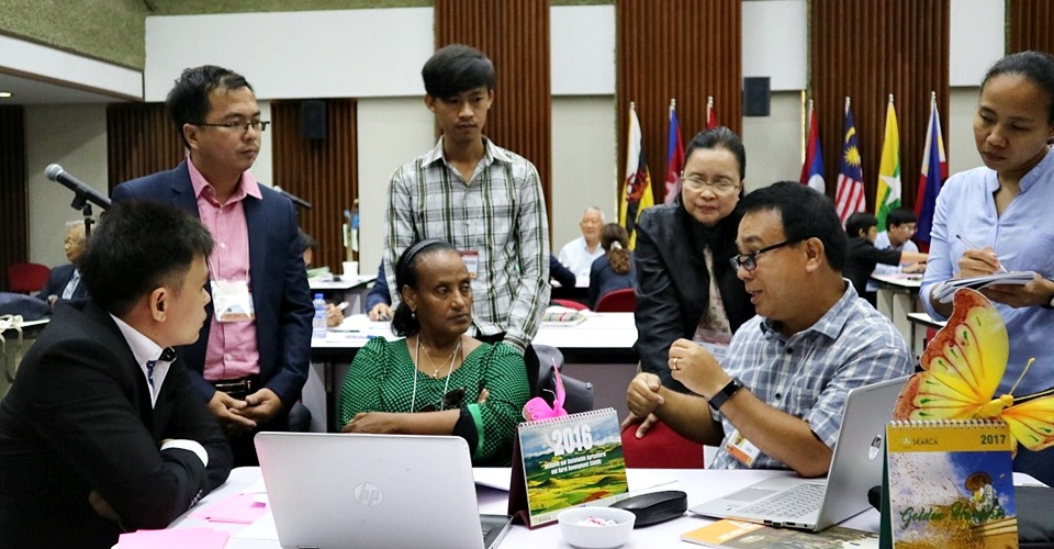
<path fill-rule="evenodd" d="M 549 303 L 549 226 L 538 170 L 483 135 L 494 101 L 494 65 L 482 52 L 446 46 L 422 69 L 425 105 L 442 136 L 392 176 L 384 271 L 399 304 L 395 269 L 415 242 L 458 248 L 472 277 L 475 337 L 524 355 L 534 388 L 538 358 L 530 340 Z"/>

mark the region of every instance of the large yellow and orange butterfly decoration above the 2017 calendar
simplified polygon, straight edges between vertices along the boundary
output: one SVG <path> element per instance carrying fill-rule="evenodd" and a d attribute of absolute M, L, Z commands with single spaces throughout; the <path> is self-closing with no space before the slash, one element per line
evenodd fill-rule
<path fill-rule="evenodd" d="M 900 392 L 894 419 L 1000 419 L 1010 427 L 1014 450 L 1018 442 L 1030 450 L 1054 446 L 1054 391 L 1014 399 L 1011 389 L 995 396 L 1009 355 L 996 306 L 977 291 L 958 290 L 948 325 L 922 352 L 924 371 Z"/>

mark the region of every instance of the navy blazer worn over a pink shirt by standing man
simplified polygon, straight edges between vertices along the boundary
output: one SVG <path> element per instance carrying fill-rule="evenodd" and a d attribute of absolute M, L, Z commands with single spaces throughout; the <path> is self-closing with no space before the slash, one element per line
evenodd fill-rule
<path fill-rule="evenodd" d="M 289 410 L 300 399 L 311 360 L 311 321 L 315 315 L 307 289 L 304 256 L 296 231 L 296 212 L 284 195 L 260 186 L 262 199 L 243 200 L 249 227 L 249 290 L 256 307 L 256 344 L 260 351 L 260 381 Z M 187 160 L 175 169 L 121 183 L 114 203 L 153 200 L 201 217 Z M 210 294 L 212 288 L 209 288 Z M 215 389 L 201 377 L 212 326 L 213 304 L 198 341 L 177 349 L 194 376 L 201 394 L 211 400 Z"/>

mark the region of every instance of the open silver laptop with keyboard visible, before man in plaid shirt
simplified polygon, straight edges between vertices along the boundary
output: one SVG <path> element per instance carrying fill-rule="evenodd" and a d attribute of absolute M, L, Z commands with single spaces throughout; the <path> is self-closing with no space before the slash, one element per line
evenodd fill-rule
<path fill-rule="evenodd" d="M 688 511 L 819 531 L 867 509 L 867 490 L 882 484 L 886 424 L 907 380 L 897 378 L 849 392 L 827 479 L 769 479 Z"/>

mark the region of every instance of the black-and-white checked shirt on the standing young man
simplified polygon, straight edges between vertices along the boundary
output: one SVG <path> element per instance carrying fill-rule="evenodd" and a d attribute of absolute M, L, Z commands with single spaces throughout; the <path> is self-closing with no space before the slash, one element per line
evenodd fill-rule
<path fill-rule="evenodd" d="M 395 268 L 415 242 L 441 238 L 479 254 L 472 280 L 478 335 L 505 333 L 523 351 L 549 303 L 549 224 L 538 170 L 484 138 L 485 152 L 469 181 L 436 147 L 399 168 L 388 191 L 384 271 L 399 304 Z"/>

